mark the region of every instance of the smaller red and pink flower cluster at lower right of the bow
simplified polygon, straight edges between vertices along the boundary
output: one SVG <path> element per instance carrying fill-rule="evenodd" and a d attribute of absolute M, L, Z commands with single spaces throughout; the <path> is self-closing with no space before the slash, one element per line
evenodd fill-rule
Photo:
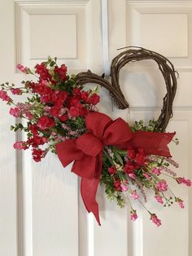
<path fill-rule="evenodd" d="M 132 130 L 137 130 L 136 126 L 137 121 L 132 126 Z M 151 125 L 146 126 L 145 130 L 151 130 Z M 178 143 L 177 139 L 176 143 Z M 166 178 L 174 179 L 178 184 L 182 183 L 187 187 L 191 186 L 191 181 L 177 177 L 177 174 L 169 169 L 169 166 L 179 167 L 171 157 L 146 155 L 142 148 L 128 148 L 125 151 L 108 146 L 103 152 L 103 173 L 100 182 L 104 184 L 107 197 L 111 201 L 116 200 L 120 207 L 124 207 L 126 202 L 129 204 L 133 221 L 137 219 L 137 210 L 133 209 L 130 199 L 139 201 L 150 214 L 151 221 L 157 227 L 161 225 L 161 220 L 144 204 L 146 189 L 153 191 L 155 201 L 160 205 L 171 206 L 175 201 L 182 209 L 185 207 L 181 198 L 175 196 L 168 188 Z"/>

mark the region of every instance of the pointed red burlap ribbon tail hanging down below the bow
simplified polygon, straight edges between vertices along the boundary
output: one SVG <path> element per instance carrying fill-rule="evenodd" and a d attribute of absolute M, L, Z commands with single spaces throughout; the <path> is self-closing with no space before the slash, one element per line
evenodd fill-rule
<path fill-rule="evenodd" d="M 98 224 L 101 226 L 98 214 L 98 202 L 96 201 L 96 193 L 98 190 L 98 183 L 102 173 L 102 157 L 103 154 L 99 153 L 97 157 L 97 168 L 94 179 L 81 179 L 81 196 L 84 201 L 86 210 L 92 212 Z"/>

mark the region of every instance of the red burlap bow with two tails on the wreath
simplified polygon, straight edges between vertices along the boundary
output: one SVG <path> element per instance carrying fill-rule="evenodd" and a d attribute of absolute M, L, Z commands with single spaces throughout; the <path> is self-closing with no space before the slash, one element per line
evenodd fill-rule
<path fill-rule="evenodd" d="M 95 200 L 102 174 L 103 147 L 107 145 L 126 149 L 143 148 L 146 154 L 171 157 L 168 143 L 175 133 L 137 131 L 132 133 L 122 119 L 112 121 L 103 113 L 89 113 L 85 117 L 87 132 L 78 139 L 68 139 L 56 145 L 63 166 L 74 161 L 72 172 L 80 176 L 81 196 L 88 212 L 92 212 L 100 225 L 98 203 Z"/>

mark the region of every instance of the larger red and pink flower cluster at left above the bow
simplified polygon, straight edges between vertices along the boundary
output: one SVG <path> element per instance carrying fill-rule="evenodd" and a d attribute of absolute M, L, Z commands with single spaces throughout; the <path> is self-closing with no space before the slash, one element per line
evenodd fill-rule
<path fill-rule="evenodd" d="M 56 143 L 78 138 L 85 132 L 85 116 L 97 111 L 99 96 L 97 90 L 83 90 L 83 86 L 77 85 L 75 77 L 68 76 L 67 67 L 59 67 L 56 59 L 37 64 L 34 71 L 20 64 L 17 68 L 36 77 L 37 82 L 24 81 L 17 87 L 8 82 L 2 84 L 0 98 L 12 106 L 11 116 L 18 121 L 27 120 L 26 126 L 21 122 L 11 126 L 11 130 L 24 130 L 27 135 L 14 148 L 32 148 L 33 160 L 41 161 L 49 150 L 55 152 Z M 28 97 L 25 102 L 15 103 L 8 92 Z"/>

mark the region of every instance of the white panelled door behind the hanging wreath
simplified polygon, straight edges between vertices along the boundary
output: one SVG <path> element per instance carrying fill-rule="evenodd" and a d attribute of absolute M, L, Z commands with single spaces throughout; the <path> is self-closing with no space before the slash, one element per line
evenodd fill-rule
<path fill-rule="evenodd" d="M 89 68 L 102 74 L 107 56 L 112 60 L 119 53 L 117 48 L 134 45 L 159 51 L 180 74 L 168 130 L 176 130 L 180 139 L 178 147 L 171 145 L 180 175 L 191 179 L 192 1 L 109 0 L 108 7 L 106 3 L 0 0 L 0 82 L 19 83 L 24 76 L 16 73 L 15 65 L 33 67 L 47 55 L 57 56 L 71 73 Z M 127 121 L 158 117 L 165 88 L 152 61 L 124 67 L 120 84 L 130 109 L 112 108 L 107 91 L 102 90 L 100 111 Z M 177 205 L 162 210 L 149 197 L 149 207 L 156 207 L 163 222 L 157 228 L 142 209 L 137 222 L 131 223 L 128 207 L 120 210 L 100 188 L 102 227 L 98 227 L 85 211 L 78 179 L 70 168 L 64 170 L 51 154 L 34 163 L 30 152 L 14 151 L 16 138 L 9 126 L 15 120 L 7 114 L 7 105 L 0 104 L 1 256 L 192 255 L 191 189 L 171 183 L 185 201 L 184 210 Z"/>

